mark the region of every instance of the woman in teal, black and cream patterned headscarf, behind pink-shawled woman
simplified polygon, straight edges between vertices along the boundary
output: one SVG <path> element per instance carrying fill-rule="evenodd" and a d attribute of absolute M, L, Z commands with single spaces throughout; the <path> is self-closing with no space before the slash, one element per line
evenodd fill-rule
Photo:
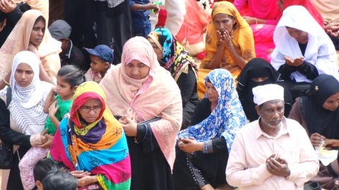
<path fill-rule="evenodd" d="M 157 61 L 171 72 L 182 94 L 182 129 L 189 127 L 194 108 L 198 104 L 196 83 L 198 68 L 189 52 L 165 27 L 156 28 L 148 34 L 148 42 L 153 46 Z"/>

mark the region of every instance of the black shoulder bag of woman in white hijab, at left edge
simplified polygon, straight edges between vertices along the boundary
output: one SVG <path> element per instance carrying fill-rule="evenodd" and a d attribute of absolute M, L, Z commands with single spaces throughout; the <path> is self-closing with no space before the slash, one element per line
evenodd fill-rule
<path fill-rule="evenodd" d="M 6 94 L 6 106 L 11 103 L 11 88 L 7 88 L 7 94 Z M 10 126 L 7 126 L 10 128 Z M 8 170 L 11 169 L 13 165 L 13 144 L 8 143 L 6 141 L 1 140 L 0 144 L 0 169 L 1 170 Z"/>

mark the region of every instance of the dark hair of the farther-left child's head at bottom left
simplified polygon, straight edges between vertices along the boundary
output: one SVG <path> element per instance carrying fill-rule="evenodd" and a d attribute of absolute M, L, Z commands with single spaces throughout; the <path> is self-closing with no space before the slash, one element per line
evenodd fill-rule
<path fill-rule="evenodd" d="M 35 182 L 42 182 L 44 177 L 46 177 L 49 172 L 55 171 L 59 171 L 59 167 L 51 159 L 44 158 L 42 160 L 39 160 L 33 167 L 34 180 Z"/>

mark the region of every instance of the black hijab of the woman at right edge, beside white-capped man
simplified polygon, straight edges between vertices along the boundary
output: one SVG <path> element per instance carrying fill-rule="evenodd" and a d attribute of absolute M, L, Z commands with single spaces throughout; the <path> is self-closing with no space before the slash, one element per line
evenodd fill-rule
<path fill-rule="evenodd" d="M 316 77 L 309 87 L 307 96 L 300 96 L 300 108 L 309 136 L 315 132 L 327 139 L 339 139 L 339 109 L 323 108 L 328 97 L 339 92 L 339 82 L 332 75 Z"/>

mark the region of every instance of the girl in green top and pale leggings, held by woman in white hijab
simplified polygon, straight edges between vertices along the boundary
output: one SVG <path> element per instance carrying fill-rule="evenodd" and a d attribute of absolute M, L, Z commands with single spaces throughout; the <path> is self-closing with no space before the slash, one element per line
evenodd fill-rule
<path fill-rule="evenodd" d="M 75 65 L 65 65 L 57 74 L 57 87 L 49 92 L 44 112 L 49 113 L 44 130 L 47 134 L 54 135 L 60 121 L 71 110 L 73 94 L 81 83 L 85 82 L 83 71 Z M 57 96 L 54 98 L 55 90 Z M 33 166 L 42 158 L 46 158 L 49 148 L 34 146 L 25 153 L 20 160 L 20 177 L 25 190 L 31 190 L 35 186 Z"/>

